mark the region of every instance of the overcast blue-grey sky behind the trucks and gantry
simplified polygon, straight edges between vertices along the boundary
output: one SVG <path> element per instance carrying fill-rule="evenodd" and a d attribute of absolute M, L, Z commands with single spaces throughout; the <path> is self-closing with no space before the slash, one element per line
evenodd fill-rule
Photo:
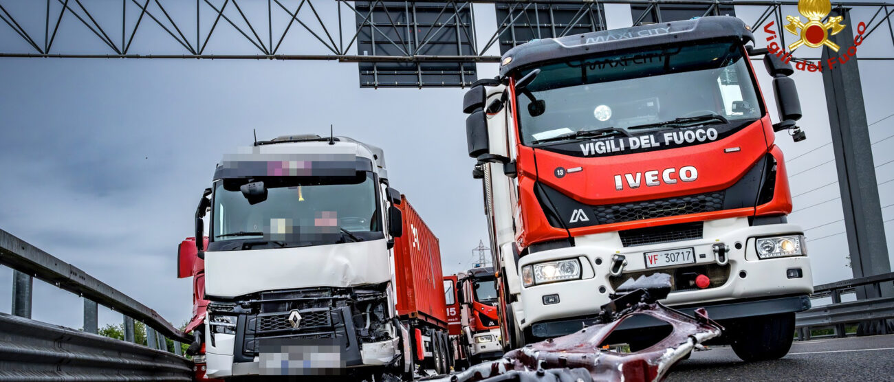
<path fill-rule="evenodd" d="M 27 3 L 14 3 L 11 12 L 18 14 L 15 9 Z M 737 11 L 746 21 L 756 18 L 753 10 Z M 609 5 L 606 13 L 610 27 L 630 23 L 626 6 Z M 871 14 L 854 17 L 868 20 Z M 477 5 L 476 18 L 493 20 L 493 6 Z M 77 47 L 77 37 L 89 33 L 62 30 L 68 32 L 57 37 L 60 49 Z M 225 46 L 227 37 L 240 44 L 229 33 L 209 46 Z M 491 33 L 493 28 L 477 30 L 482 43 Z M 890 37 L 876 33 L 869 40 L 874 45 L 861 46 L 860 54 L 890 56 Z M 164 36 L 139 37 L 135 46 L 148 49 Z M 20 38 L 0 24 L 0 51 L 21 50 Z M 763 73 L 763 64 L 754 63 Z M 860 62 L 870 123 L 890 114 L 892 63 Z M 493 65 L 479 65 L 479 78 L 494 74 Z M 836 174 L 834 162 L 821 164 L 832 159 L 822 77 L 797 72 L 794 78 L 808 139 L 793 144 L 780 134 L 778 143 L 787 158 L 797 157 L 788 166 L 792 194 L 798 195 Z M 766 75 L 761 85 L 772 104 Z M 463 93 L 360 89 L 351 63 L 0 59 L 0 177 L 6 179 L 0 228 L 179 325 L 190 318 L 191 281 L 175 278 L 176 246 L 192 235 L 198 197 L 223 152 L 248 145 L 251 129 L 258 138 L 322 135 L 333 123 L 336 134 L 384 149 L 392 186 L 408 195 L 441 239 L 444 270 L 462 270 L 471 248 L 486 240 L 480 183 L 470 176 L 473 161 L 466 154 Z M 894 163 L 882 165 L 894 160 L 894 138 L 882 140 L 894 133 L 894 118 L 873 125 L 870 133 L 873 142 L 881 141 L 873 145 L 878 181 L 894 179 Z M 799 195 L 789 217 L 804 228 L 831 223 L 807 231 L 817 238 L 808 241 L 815 284 L 851 277 L 845 236 L 833 235 L 844 230 L 843 222 L 835 222 L 842 218 L 836 196 L 837 184 Z M 880 196 L 882 206 L 894 203 L 894 182 L 882 185 Z M 798 211 L 823 201 L 828 202 Z M 894 218 L 894 207 L 883 213 L 884 220 Z M 885 223 L 889 232 L 892 224 Z M 4 312 L 10 311 L 11 273 L 0 270 Z M 36 281 L 33 316 L 79 328 L 80 300 Z M 100 322 L 120 322 L 120 315 L 104 310 Z"/>

